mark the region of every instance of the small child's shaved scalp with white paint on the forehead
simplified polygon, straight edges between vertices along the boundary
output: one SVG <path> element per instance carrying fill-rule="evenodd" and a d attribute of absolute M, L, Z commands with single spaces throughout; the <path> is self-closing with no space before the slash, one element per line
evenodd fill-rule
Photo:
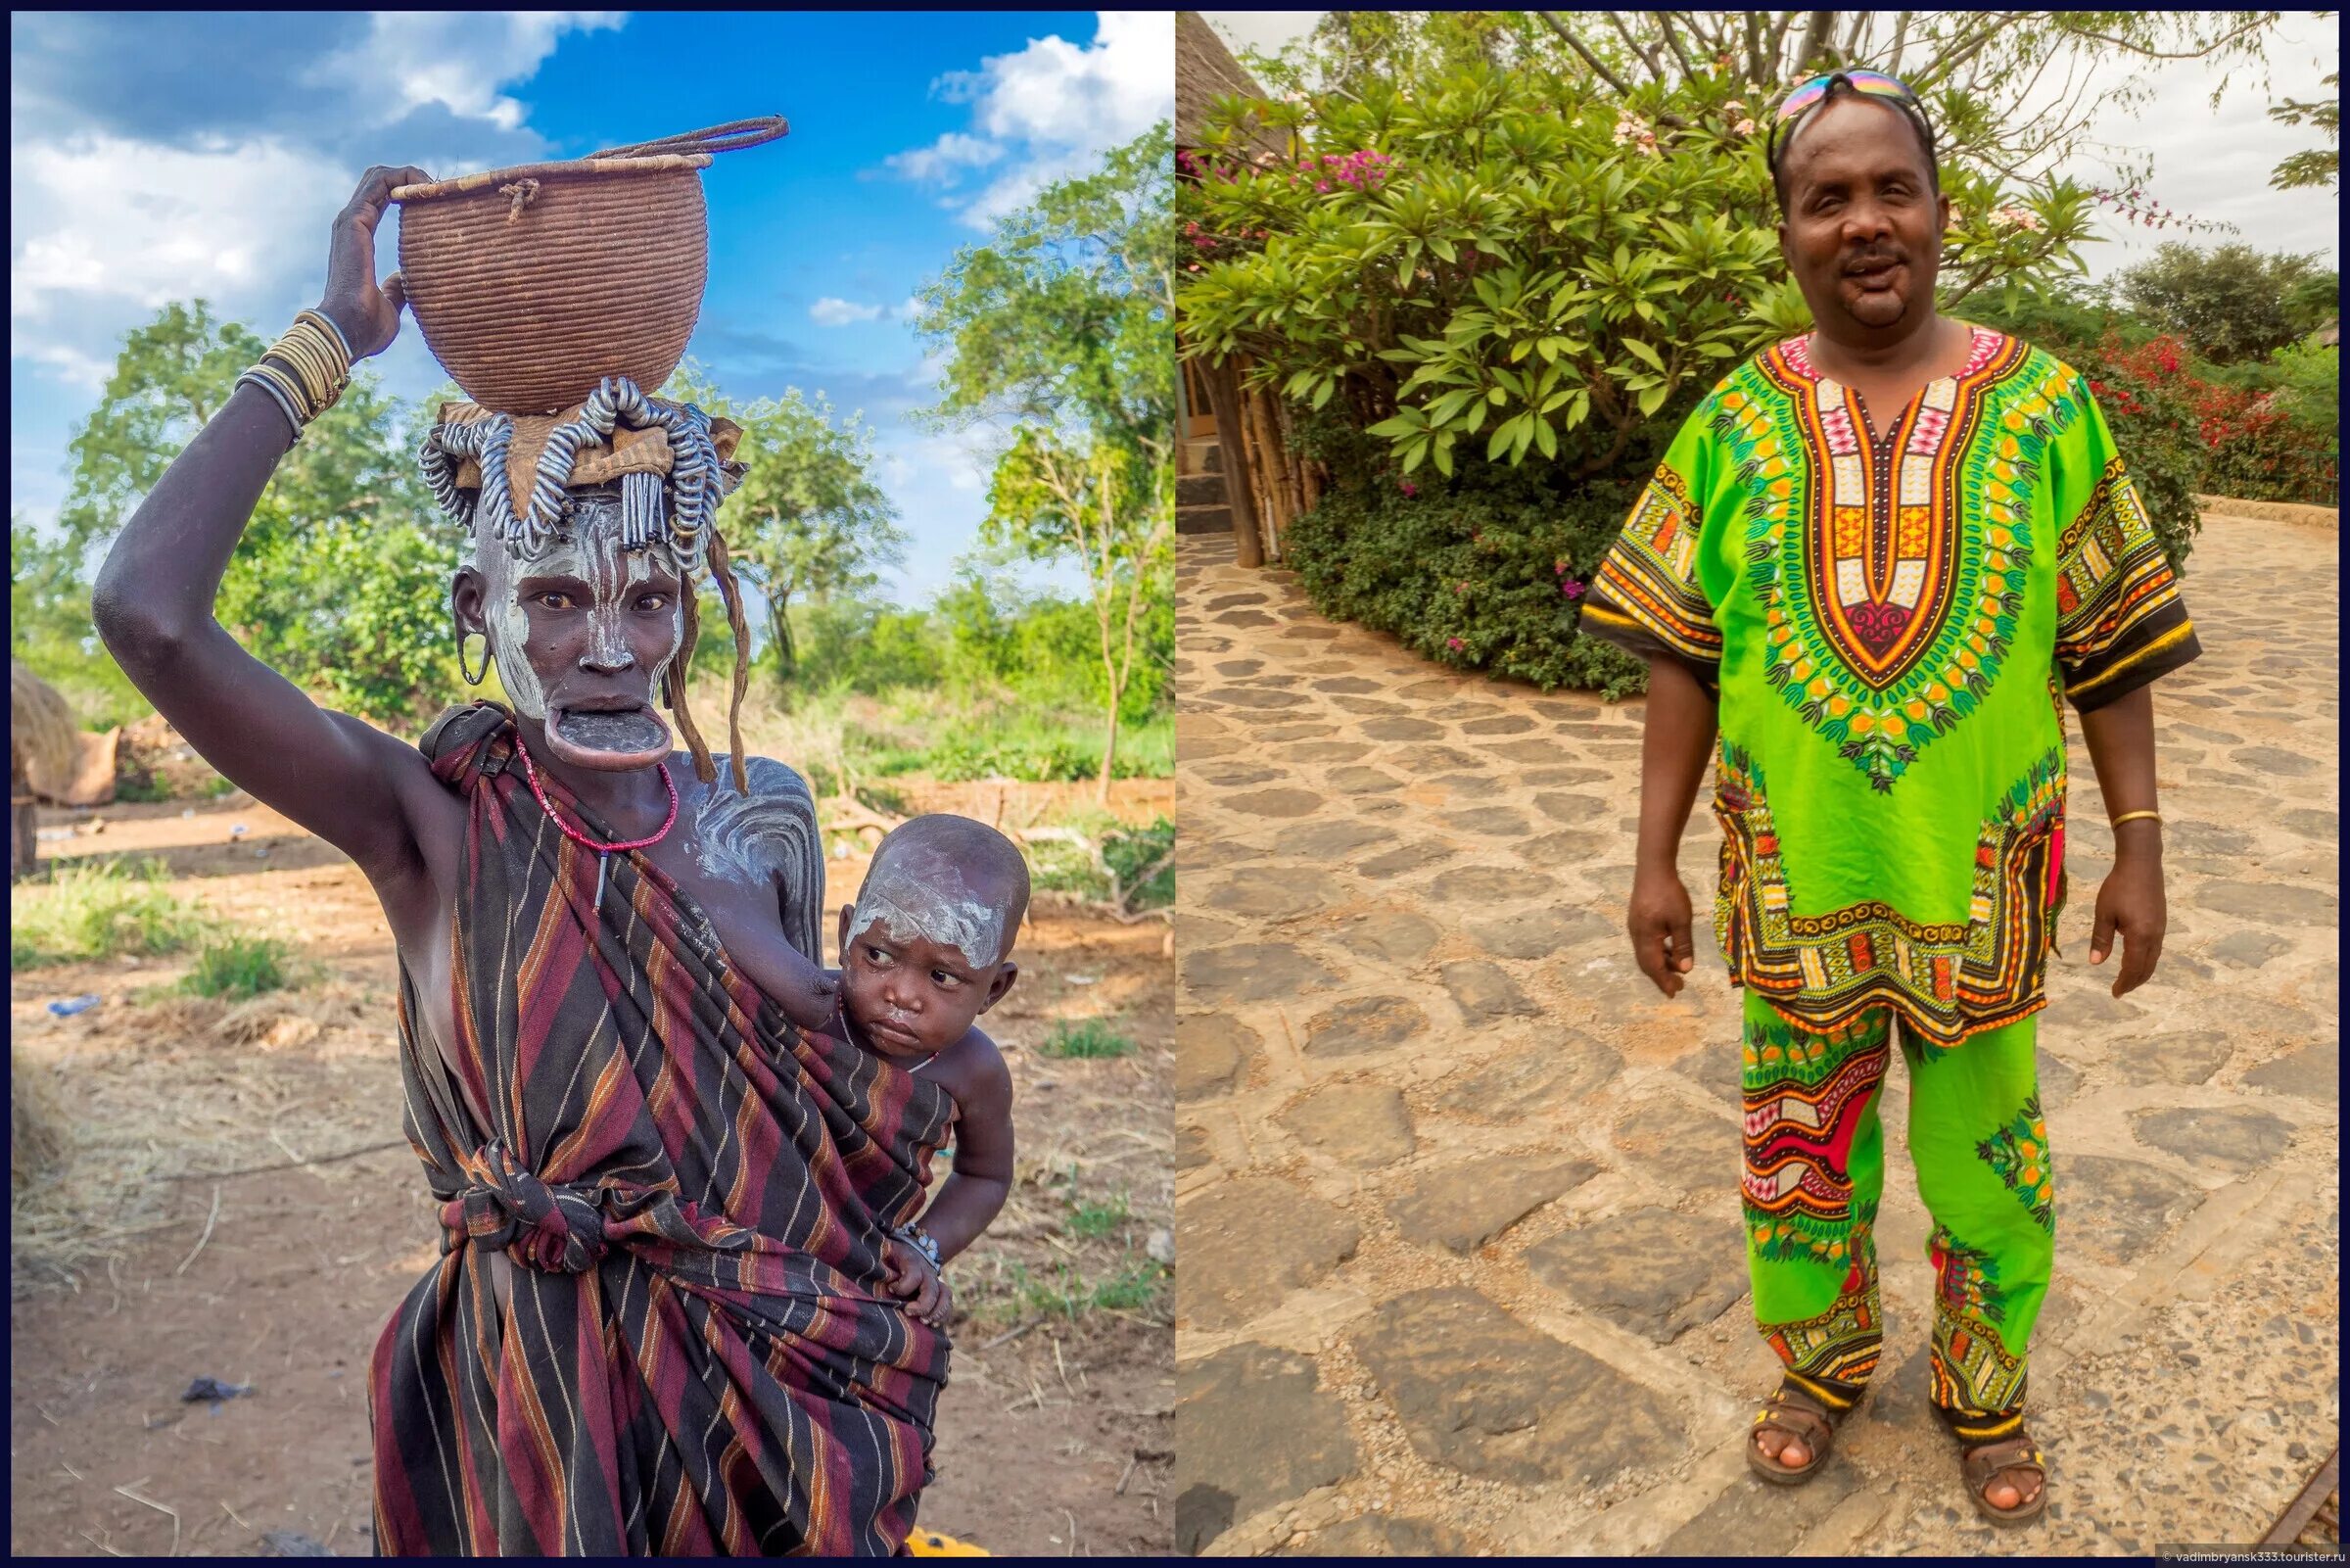
<path fill-rule="evenodd" d="M 1020 846 L 987 823 L 938 811 L 881 839 L 848 938 L 879 924 L 898 943 L 926 938 L 961 952 L 971 969 L 992 969 L 1010 957 L 1027 900 Z"/>

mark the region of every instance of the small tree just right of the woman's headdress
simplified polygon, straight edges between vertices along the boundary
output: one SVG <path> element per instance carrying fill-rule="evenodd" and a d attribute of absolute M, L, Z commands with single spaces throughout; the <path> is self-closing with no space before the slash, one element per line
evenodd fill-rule
<path fill-rule="evenodd" d="M 832 423 L 825 395 L 808 402 L 799 388 L 736 407 L 698 364 L 679 367 L 663 395 L 743 425 L 736 461 L 750 473 L 719 524 L 736 571 L 766 602 L 776 682 L 787 701 L 799 670 L 792 599 L 862 592 L 879 581 L 879 567 L 905 559 L 898 508 L 872 480 L 872 428 L 862 414 Z"/>

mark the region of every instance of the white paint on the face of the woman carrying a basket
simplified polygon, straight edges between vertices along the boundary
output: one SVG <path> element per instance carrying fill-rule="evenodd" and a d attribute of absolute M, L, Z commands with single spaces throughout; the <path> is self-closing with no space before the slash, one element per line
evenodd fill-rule
<path fill-rule="evenodd" d="M 522 607 L 519 585 L 536 576 L 571 576 L 588 585 L 588 649 L 583 663 L 599 670 L 620 670 L 634 663 L 627 642 L 627 616 L 637 592 L 653 581 L 656 569 L 679 583 L 670 604 L 667 651 L 653 663 L 649 701 L 660 701 L 660 682 L 677 658 L 686 637 L 684 585 L 667 545 L 646 550 L 620 548 L 620 505 L 616 501 L 588 501 L 571 512 L 571 531 L 559 534 L 543 552 L 517 559 L 505 541 L 477 538 L 472 564 L 482 574 L 482 618 L 489 625 L 489 649 L 498 661 L 498 679 L 515 701 L 515 712 L 548 719 L 548 691 L 531 668 L 529 642 L 531 618 Z"/>

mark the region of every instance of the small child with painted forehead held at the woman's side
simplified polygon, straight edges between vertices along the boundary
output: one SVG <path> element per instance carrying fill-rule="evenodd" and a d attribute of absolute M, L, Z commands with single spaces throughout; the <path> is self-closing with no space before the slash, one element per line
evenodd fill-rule
<path fill-rule="evenodd" d="M 971 1023 L 1020 976 L 1010 957 L 1027 900 L 1027 860 L 1010 839 L 933 813 L 881 839 L 858 903 L 841 907 L 837 1027 L 954 1098 L 954 1173 L 886 1248 L 891 1293 L 933 1326 L 949 1314 L 938 1267 L 987 1229 L 1013 1187 L 1013 1079 Z"/>

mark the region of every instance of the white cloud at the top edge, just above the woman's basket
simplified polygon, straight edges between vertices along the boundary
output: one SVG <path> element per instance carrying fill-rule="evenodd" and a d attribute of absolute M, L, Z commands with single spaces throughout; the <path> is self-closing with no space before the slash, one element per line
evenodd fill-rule
<path fill-rule="evenodd" d="M 442 103 L 454 115 L 522 125 L 522 103 L 501 94 L 526 82 L 566 33 L 618 28 L 627 12 L 374 12 L 362 42 L 327 56 L 310 85 L 348 85 L 360 113 L 390 125 Z"/>

